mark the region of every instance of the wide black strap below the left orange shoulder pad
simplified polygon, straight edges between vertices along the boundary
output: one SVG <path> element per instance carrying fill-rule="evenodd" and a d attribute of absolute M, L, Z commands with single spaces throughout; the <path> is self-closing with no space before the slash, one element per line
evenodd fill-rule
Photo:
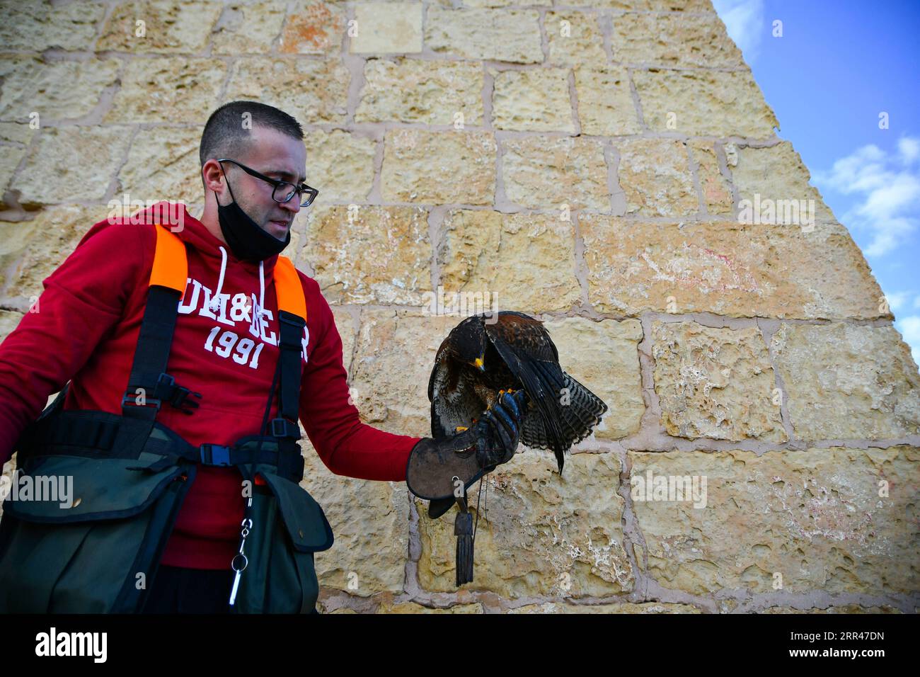
<path fill-rule="evenodd" d="M 180 296 L 176 289 L 150 286 L 128 390 L 121 401 L 121 414 L 129 418 L 153 421 L 160 408 L 161 402 L 156 397 L 157 383 L 160 375 L 167 370 Z"/>

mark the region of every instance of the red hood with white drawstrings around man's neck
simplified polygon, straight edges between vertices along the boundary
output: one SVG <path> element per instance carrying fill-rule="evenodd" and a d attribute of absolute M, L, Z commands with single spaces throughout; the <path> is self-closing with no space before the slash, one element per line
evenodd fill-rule
<path fill-rule="evenodd" d="M 265 322 L 261 309 L 265 307 L 265 286 L 273 279 L 275 263 L 279 254 L 272 254 L 269 258 L 259 263 L 237 259 L 230 248 L 223 241 L 217 239 L 208 228 L 197 218 L 189 214 L 184 203 L 170 203 L 167 201 L 152 204 L 144 209 L 147 221 L 144 223 L 167 223 L 170 229 L 178 235 L 186 245 L 194 247 L 205 260 L 213 260 L 213 267 L 217 273 L 213 280 L 214 294 L 210 308 L 213 311 L 220 305 L 221 294 L 224 292 L 224 278 L 227 266 L 233 266 L 236 271 L 243 271 L 253 278 L 256 309 L 252 313 L 253 327 L 261 331 Z M 209 266 L 210 267 L 210 266 Z"/>

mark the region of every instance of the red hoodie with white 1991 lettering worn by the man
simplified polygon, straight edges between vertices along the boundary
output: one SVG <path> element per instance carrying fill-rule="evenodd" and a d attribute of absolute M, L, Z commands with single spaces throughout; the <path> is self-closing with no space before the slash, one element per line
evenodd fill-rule
<path fill-rule="evenodd" d="M 279 353 L 273 275 L 278 257 L 262 263 L 263 287 L 259 263 L 236 259 L 185 205 L 178 208 L 184 228 L 177 234 L 186 243 L 189 280 L 167 371 L 179 385 L 201 392 L 201 400 L 195 400 L 200 407 L 192 415 L 165 405 L 156 420 L 192 445 L 229 445 L 259 433 L 268 401 Z M 103 220 L 90 228 L 44 280 L 38 311 L 26 313 L 0 344 L 0 462 L 9 460 L 22 430 L 68 379 L 65 409 L 121 414 L 155 248 L 155 227 L 128 221 L 111 225 Z M 332 473 L 404 482 L 409 451 L 420 438 L 387 433 L 359 420 L 357 408 L 348 402 L 332 310 L 316 280 L 298 274 L 307 313 L 300 400 L 307 437 Z M 265 321 L 259 326 L 259 315 L 254 323 L 251 309 L 261 305 L 263 294 Z M 209 309 L 212 302 L 215 311 Z M 277 411 L 275 395 L 270 416 Z M 236 468 L 199 464 L 162 564 L 230 566 L 243 519 L 241 481 Z"/>

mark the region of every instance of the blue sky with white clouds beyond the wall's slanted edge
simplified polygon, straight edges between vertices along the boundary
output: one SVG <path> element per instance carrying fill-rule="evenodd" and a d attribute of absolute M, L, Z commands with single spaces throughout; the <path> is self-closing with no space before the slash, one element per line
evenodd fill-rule
<path fill-rule="evenodd" d="M 920 363 L 920 2 L 714 5 Z"/>

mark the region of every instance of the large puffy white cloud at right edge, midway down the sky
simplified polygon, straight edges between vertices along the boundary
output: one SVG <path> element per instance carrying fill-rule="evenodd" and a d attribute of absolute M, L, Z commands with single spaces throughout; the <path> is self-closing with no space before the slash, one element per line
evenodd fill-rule
<path fill-rule="evenodd" d="M 920 207 L 920 139 L 903 136 L 897 153 L 879 146 L 862 146 L 834 162 L 829 171 L 817 171 L 813 180 L 822 192 L 855 194 L 859 201 L 841 220 L 848 228 L 866 228 L 873 239 L 866 256 L 894 251 L 917 228 Z"/>

